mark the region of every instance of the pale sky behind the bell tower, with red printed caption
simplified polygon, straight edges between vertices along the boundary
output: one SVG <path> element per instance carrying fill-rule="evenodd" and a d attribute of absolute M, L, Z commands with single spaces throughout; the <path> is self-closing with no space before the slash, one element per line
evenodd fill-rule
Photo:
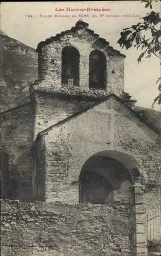
<path fill-rule="evenodd" d="M 154 11 L 160 10 L 159 1 L 153 1 L 152 6 Z M 104 10 L 91 10 L 97 8 Z M 151 108 L 158 95 L 159 59 L 153 56 L 138 63 L 140 52 L 136 48 L 121 49 L 117 44 L 121 30 L 141 22 L 140 18 L 149 12 L 141 1 L 1 2 L 1 30 L 36 49 L 40 41 L 71 29 L 77 20 L 83 19 L 89 29 L 126 55 L 124 91 L 138 101 L 136 105 Z M 154 109 L 161 111 L 161 106 L 156 103 Z"/>

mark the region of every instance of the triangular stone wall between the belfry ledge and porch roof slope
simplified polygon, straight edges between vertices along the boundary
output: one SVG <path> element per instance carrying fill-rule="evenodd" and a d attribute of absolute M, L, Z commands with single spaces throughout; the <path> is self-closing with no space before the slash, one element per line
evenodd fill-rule
<path fill-rule="evenodd" d="M 36 93 L 35 134 L 49 126 L 75 114 L 95 102 L 92 98 L 72 97 L 70 95 Z"/>

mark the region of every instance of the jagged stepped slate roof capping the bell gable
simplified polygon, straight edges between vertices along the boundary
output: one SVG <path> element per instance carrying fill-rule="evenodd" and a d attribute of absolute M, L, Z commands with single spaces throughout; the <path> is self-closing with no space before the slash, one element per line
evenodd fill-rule
<path fill-rule="evenodd" d="M 72 27 L 70 30 L 66 30 L 66 31 L 62 31 L 60 34 L 57 34 L 56 36 L 52 36 L 50 38 L 47 38 L 45 41 L 41 41 L 38 46 L 36 51 L 39 52 L 41 50 L 41 48 L 43 48 L 46 45 L 49 45 L 52 41 L 58 41 L 60 40 L 61 37 L 63 37 L 64 35 L 69 35 L 69 34 L 73 34 L 73 33 L 77 33 L 78 30 L 86 30 L 90 35 L 92 35 L 94 37 L 94 40 L 96 40 L 94 43 L 95 44 L 99 44 L 102 45 L 103 48 L 107 47 L 107 50 L 109 51 L 109 53 L 115 55 L 118 54 L 120 56 L 126 57 L 124 54 L 121 54 L 119 51 L 113 49 L 113 47 L 111 47 L 109 45 L 109 42 L 106 41 L 104 38 L 99 37 L 98 34 L 95 34 L 93 30 L 89 29 L 89 24 L 83 22 L 83 20 L 78 20 L 78 22 L 76 22 L 75 26 Z"/>

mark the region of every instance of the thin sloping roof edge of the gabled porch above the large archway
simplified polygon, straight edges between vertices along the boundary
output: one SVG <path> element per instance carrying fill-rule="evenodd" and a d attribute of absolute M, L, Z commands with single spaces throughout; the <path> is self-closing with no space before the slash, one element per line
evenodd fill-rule
<path fill-rule="evenodd" d="M 100 104 L 100 103 L 102 103 L 102 102 L 105 102 L 106 100 L 108 100 L 108 99 L 110 99 L 110 98 L 115 98 L 117 101 L 119 101 L 120 103 L 122 103 L 122 104 L 125 106 L 125 108 L 127 108 L 132 114 L 134 114 L 141 122 L 143 122 L 145 125 L 147 125 L 153 132 L 155 132 L 157 135 L 160 134 L 159 129 L 157 129 L 156 127 L 154 127 L 152 124 L 150 124 L 149 122 L 147 122 L 145 119 L 142 119 L 142 118 L 140 117 L 140 115 L 138 115 L 138 113 L 137 113 L 136 111 L 132 110 L 128 105 L 124 104 L 124 101 L 123 101 L 122 99 L 120 99 L 118 96 L 116 96 L 115 94 L 111 94 L 111 95 L 109 95 L 108 97 L 106 97 L 105 99 L 102 99 L 102 100 L 99 101 L 99 102 L 95 102 L 94 104 L 92 104 L 92 105 L 90 105 L 90 106 L 87 106 L 87 108 L 85 108 L 85 109 L 83 109 L 83 110 L 81 110 L 81 111 L 78 111 L 78 112 L 74 113 L 72 116 L 69 116 L 69 117 L 67 117 L 67 118 L 65 118 L 65 119 L 63 119 L 63 120 L 61 120 L 60 122 L 49 126 L 47 129 L 45 129 L 45 130 L 43 130 L 42 132 L 40 132 L 40 133 L 38 134 L 38 136 L 39 136 L 39 135 L 44 135 L 44 134 L 48 133 L 53 127 L 59 126 L 59 125 L 61 125 L 61 124 L 63 124 L 63 123 L 68 122 L 69 120 L 71 120 L 71 119 L 73 119 L 73 118 L 79 116 L 79 115 L 82 115 L 83 113 L 87 112 L 88 110 L 94 108 L 94 106 L 96 106 L 96 105 L 98 105 L 98 104 Z M 38 136 L 37 136 L 37 137 L 38 137 Z"/>

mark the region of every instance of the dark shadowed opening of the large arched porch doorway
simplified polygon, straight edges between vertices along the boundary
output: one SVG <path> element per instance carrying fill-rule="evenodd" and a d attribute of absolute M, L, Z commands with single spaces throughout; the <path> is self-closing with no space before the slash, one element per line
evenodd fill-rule
<path fill-rule="evenodd" d="M 112 191 L 124 191 L 125 199 L 130 200 L 131 185 L 131 174 L 123 163 L 112 156 L 94 155 L 86 161 L 79 176 L 79 202 L 105 204 L 112 200 Z"/>

